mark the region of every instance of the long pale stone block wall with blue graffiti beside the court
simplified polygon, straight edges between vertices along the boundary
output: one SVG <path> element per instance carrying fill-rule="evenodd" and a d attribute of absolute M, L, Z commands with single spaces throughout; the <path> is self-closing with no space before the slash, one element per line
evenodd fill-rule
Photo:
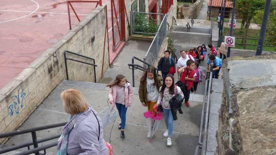
<path fill-rule="evenodd" d="M 98 6 L 0 90 L 0 132 L 16 130 L 50 92 L 66 80 L 64 50 L 94 58 L 98 65 L 96 77 L 98 80 L 102 77 L 109 67 L 107 39 L 104 49 L 105 26 L 105 6 Z M 80 59 L 72 54 L 67 54 L 67 58 L 92 63 L 89 59 Z M 69 80 L 94 82 L 93 66 L 71 60 L 67 60 L 67 65 Z M 0 142 L 6 141 L 7 138 L 2 138 Z"/>

